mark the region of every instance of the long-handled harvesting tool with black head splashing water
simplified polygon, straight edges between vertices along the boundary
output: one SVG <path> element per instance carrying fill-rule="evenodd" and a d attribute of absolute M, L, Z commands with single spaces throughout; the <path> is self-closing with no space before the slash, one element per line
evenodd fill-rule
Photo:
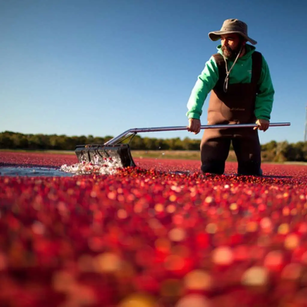
<path fill-rule="evenodd" d="M 219 124 L 203 125 L 200 129 L 227 129 L 227 128 L 254 128 L 256 124 Z M 270 127 L 290 126 L 290 122 L 270 123 Z M 187 126 L 132 128 L 110 139 L 104 144 L 77 145 L 75 153 L 80 163 L 92 163 L 93 165 L 104 165 L 107 161 L 116 161 L 119 167 L 136 166 L 133 161 L 129 143 L 133 137 L 140 132 L 175 131 L 187 130 Z M 130 137 L 129 143 L 121 143 Z"/>

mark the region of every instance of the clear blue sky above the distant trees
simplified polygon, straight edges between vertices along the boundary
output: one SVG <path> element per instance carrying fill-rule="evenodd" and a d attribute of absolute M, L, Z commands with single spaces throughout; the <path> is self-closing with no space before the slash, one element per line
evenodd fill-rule
<path fill-rule="evenodd" d="M 0 131 L 105 136 L 187 125 L 186 104 L 216 52 L 208 32 L 248 24 L 276 91 L 262 143 L 304 138 L 307 2 L 0 1 Z M 207 122 L 208 98 L 202 124 Z M 187 131 L 142 137 L 201 138 Z"/>

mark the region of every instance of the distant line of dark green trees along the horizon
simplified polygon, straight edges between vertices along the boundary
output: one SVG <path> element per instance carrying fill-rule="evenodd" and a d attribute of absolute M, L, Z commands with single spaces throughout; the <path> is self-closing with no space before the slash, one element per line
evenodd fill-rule
<path fill-rule="evenodd" d="M 75 150 L 76 145 L 103 144 L 112 136 L 93 137 L 57 134 L 22 134 L 12 131 L 0 133 L 1 149 L 22 150 Z M 129 140 L 123 141 L 129 142 Z M 200 140 L 184 138 L 148 138 L 135 135 L 130 141 L 131 150 L 199 150 Z M 232 146 L 230 148 L 233 150 Z M 288 143 L 271 141 L 261 145 L 264 161 L 307 161 L 307 142 Z"/>

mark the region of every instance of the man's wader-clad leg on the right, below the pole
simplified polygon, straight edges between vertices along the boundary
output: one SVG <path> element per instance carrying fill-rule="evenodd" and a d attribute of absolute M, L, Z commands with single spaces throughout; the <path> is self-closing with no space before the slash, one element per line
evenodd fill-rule
<path fill-rule="evenodd" d="M 238 160 L 239 175 L 261 176 L 261 146 L 258 130 L 243 131 L 232 139 L 232 145 Z"/>

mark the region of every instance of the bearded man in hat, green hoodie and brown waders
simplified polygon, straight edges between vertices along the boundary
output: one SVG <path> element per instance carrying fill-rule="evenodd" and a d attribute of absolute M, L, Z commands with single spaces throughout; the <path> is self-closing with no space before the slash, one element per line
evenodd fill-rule
<path fill-rule="evenodd" d="M 232 142 L 238 174 L 261 176 L 258 130 L 269 128 L 274 99 L 267 62 L 252 46 L 257 42 L 248 37 L 243 21 L 227 19 L 220 31 L 208 35 L 212 41 L 220 39 L 221 44 L 192 89 L 186 114 L 188 131 L 200 132 L 202 107 L 209 92 L 208 125 L 256 123 L 257 126 L 205 129 L 200 144 L 201 170 L 223 174 Z"/>

